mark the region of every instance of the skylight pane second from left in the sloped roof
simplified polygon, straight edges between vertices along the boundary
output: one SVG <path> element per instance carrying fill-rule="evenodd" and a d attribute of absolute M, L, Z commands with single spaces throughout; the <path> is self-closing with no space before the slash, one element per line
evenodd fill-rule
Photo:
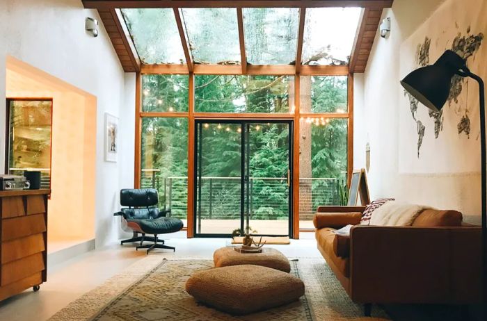
<path fill-rule="evenodd" d="M 235 8 L 182 9 L 194 63 L 240 63 L 239 29 Z"/>

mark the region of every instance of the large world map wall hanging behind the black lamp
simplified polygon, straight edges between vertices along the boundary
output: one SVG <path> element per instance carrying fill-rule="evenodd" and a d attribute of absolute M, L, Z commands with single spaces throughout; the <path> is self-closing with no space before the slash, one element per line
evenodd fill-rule
<path fill-rule="evenodd" d="M 399 77 L 431 65 L 446 49 L 462 56 L 487 79 L 487 2 L 447 0 L 401 44 Z M 399 83 L 399 81 L 398 81 Z M 447 104 L 435 113 L 401 86 L 399 92 L 399 171 L 479 172 L 479 89 L 472 79 L 454 76 Z M 444 160 L 444 161 L 443 161 Z"/>

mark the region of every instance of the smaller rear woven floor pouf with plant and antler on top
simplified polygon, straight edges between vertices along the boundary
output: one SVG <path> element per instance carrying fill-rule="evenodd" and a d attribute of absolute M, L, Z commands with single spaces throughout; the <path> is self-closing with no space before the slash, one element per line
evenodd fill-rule
<path fill-rule="evenodd" d="M 267 268 L 273 268 L 282 272 L 291 271 L 291 265 L 287 257 L 277 249 L 264 247 L 262 253 L 241 254 L 233 247 L 222 247 L 217 249 L 213 254 L 213 261 L 216 268 L 232 265 L 261 265 Z"/>

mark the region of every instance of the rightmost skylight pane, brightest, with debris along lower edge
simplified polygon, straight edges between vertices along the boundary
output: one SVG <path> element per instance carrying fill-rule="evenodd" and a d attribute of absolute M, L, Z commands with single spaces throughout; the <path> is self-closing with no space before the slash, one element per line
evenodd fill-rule
<path fill-rule="evenodd" d="M 303 65 L 348 65 L 361 8 L 306 9 Z"/>

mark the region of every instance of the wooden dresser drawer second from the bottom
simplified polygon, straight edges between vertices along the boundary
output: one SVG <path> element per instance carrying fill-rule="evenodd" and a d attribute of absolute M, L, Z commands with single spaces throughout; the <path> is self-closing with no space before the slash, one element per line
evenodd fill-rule
<path fill-rule="evenodd" d="M 1 286 L 25 279 L 45 270 L 42 253 L 33 254 L 17 261 L 1 265 Z"/>

